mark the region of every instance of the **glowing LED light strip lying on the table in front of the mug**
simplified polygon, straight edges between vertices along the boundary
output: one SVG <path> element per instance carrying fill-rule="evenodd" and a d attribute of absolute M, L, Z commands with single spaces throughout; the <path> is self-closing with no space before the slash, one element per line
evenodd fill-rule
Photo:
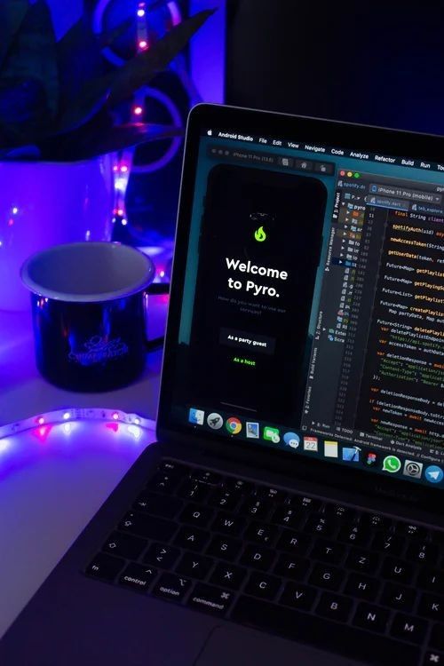
<path fill-rule="evenodd" d="M 103 421 L 106 423 L 125 424 L 143 430 L 155 432 L 155 421 L 138 414 L 128 414 L 120 409 L 103 408 L 66 408 L 30 416 L 22 421 L 0 426 L 0 441 L 13 435 L 42 428 L 48 425 L 72 424 L 78 421 Z M 130 431 L 131 432 L 131 431 Z M 136 438 L 136 439 L 139 439 Z M 1 448 L 1 444 L 0 444 Z"/>

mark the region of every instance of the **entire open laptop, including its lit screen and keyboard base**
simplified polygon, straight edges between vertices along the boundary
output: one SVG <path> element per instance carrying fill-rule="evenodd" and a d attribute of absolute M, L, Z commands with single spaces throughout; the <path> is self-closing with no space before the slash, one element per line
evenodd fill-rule
<path fill-rule="evenodd" d="M 444 663 L 443 238 L 444 139 L 195 107 L 158 442 L 3 666 Z"/>

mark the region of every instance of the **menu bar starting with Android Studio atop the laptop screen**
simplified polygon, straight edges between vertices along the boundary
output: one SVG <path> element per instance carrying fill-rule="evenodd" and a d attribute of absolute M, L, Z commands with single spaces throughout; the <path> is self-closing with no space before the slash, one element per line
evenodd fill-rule
<path fill-rule="evenodd" d="M 424 159 L 411 159 L 406 156 L 383 155 L 381 153 L 369 153 L 360 150 L 349 150 L 347 148 L 323 146 L 321 144 L 306 143 L 305 141 L 290 141 L 289 139 L 276 139 L 263 137 L 254 134 L 241 134 L 233 131 L 216 131 L 208 129 L 205 132 L 212 139 L 230 139 L 239 141 L 244 146 L 247 144 L 272 148 L 285 148 L 295 152 L 313 153 L 320 157 L 351 157 L 363 162 L 377 162 L 383 164 L 393 164 L 413 169 L 422 169 L 426 171 L 438 171 L 444 174 L 444 162 L 427 162 Z"/>

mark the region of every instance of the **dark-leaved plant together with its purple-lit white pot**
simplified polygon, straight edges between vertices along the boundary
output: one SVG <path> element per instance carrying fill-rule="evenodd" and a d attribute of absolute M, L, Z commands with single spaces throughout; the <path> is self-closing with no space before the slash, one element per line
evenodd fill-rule
<path fill-rule="evenodd" d="M 111 155 L 178 133 L 118 124 L 115 108 L 162 71 L 211 13 L 195 14 L 123 67 L 106 70 L 101 50 L 127 26 L 95 36 L 82 18 L 57 41 L 45 0 L 2 0 L 0 309 L 28 304 L 19 271 L 32 252 L 109 240 Z"/>

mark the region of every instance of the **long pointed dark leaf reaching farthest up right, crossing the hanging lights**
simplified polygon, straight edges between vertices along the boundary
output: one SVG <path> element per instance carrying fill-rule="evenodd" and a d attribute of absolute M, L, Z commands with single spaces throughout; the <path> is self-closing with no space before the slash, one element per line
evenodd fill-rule
<path fill-rule="evenodd" d="M 112 73 L 111 94 L 107 103 L 118 104 L 148 83 L 182 51 L 194 33 L 214 12 L 215 10 L 205 10 L 194 14 L 172 28 L 163 39 L 152 44 L 146 52 L 139 53 L 136 58 L 116 69 Z"/>

